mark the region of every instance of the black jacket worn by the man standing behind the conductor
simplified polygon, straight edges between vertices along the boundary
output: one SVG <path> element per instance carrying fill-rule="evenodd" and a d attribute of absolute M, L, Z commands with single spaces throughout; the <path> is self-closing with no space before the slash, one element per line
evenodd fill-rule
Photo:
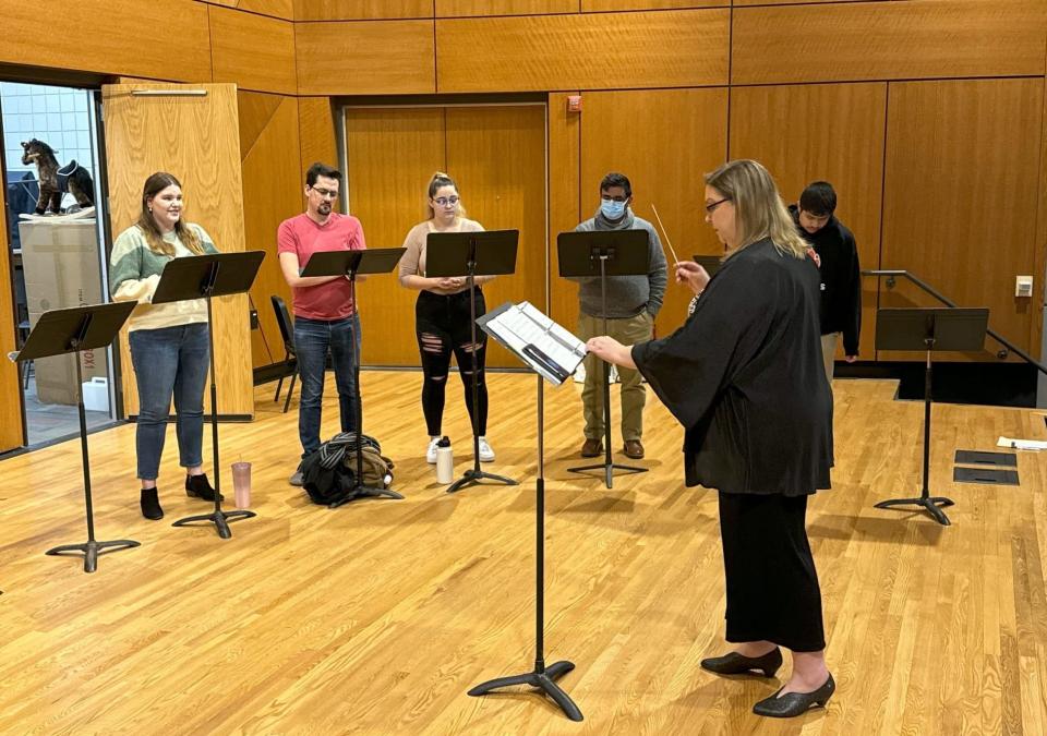
<path fill-rule="evenodd" d="M 862 273 L 854 236 L 835 217 L 810 234 L 799 227 L 799 209 L 790 205 L 796 230 L 821 260 L 821 334 L 843 333 L 843 352 L 858 354 L 862 331 Z"/>

